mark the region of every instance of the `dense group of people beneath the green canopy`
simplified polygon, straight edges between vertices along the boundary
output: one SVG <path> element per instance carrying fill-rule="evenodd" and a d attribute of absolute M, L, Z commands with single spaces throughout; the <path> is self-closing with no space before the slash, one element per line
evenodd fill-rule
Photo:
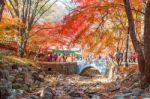
<path fill-rule="evenodd" d="M 47 59 L 48 62 L 73 62 L 75 61 L 75 55 L 64 53 L 49 53 Z"/>

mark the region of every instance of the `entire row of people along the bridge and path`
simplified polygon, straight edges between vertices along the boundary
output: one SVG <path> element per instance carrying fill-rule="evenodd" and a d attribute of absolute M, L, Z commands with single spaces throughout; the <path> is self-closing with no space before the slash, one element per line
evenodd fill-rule
<path fill-rule="evenodd" d="M 135 62 L 137 62 L 137 57 L 138 57 L 137 53 L 132 52 L 128 55 L 127 61 L 130 63 L 135 63 Z M 102 57 L 101 55 L 99 55 L 99 57 L 98 57 L 98 59 L 106 60 L 106 61 L 109 61 L 112 58 L 113 58 L 113 56 L 110 54 L 107 55 L 107 57 Z M 91 56 L 86 58 L 86 60 L 91 60 L 91 59 L 93 59 L 93 57 L 91 57 Z M 78 58 L 76 55 L 73 55 L 73 54 L 52 52 L 47 55 L 47 60 L 48 60 L 48 62 L 74 62 L 76 60 L 82 60 L 82 58 L 81 57 Z M 121 52 L 117 52 L 115 54 L 115 60 L 118 62 L 125 61 L 125 54 L 123 54 Z"/>

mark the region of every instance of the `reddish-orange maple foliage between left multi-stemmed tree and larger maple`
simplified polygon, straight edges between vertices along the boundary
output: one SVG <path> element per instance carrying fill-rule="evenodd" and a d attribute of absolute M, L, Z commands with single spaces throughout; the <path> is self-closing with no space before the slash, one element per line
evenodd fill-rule
<path fill-rule="evenodd" d="M 59 26 L 61 26 L 61 23 L 52 22 L 34 25 L 29 34 L 27 49 L 42 51 L 53 45 L 65 45 L 64 38 L 58 33 Z"/>

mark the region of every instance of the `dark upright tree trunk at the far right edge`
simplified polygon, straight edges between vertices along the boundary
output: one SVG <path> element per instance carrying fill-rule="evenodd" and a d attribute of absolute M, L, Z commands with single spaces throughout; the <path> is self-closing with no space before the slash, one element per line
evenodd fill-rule
<path fill-rule="evenodd" d="M 145 82 L 150 84 L 150 0 L 145 9 L 144 20 L 144 54 L 145 54 Z"/>

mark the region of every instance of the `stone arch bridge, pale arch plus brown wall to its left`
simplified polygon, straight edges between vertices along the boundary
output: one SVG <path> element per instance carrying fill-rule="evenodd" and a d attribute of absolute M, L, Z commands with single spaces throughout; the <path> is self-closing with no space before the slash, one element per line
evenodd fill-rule
<path fill-rule="evenodd" d="M 95 68 L 104 75 L 107 62 L 103 60 L 80 60 L 77 62 L 39 62 L 39 64 L 46 73 L 80 74 L 85 69 Z"/>

